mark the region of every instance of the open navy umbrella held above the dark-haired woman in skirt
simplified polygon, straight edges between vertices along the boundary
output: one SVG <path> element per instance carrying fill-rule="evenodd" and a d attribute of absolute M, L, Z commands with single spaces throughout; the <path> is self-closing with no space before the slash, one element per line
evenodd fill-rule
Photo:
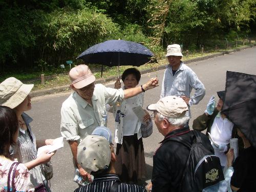
<path fill-rule="evenodd" d="M 119 67 L 120 65 L 139 67 L 149 62 L 151 57 L 153 57 L 153 53 L 137 42 L 107 40 L 90 47 L 80 54 L 77 59 L 82 59 L 85 63 L 95 63 L 109 67 Z"/>

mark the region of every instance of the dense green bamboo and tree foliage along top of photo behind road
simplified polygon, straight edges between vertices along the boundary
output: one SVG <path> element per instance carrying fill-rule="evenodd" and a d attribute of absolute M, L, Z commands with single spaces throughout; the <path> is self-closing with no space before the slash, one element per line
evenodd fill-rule
<path fill-rule="evenodd" d="M 109 39 L 156 56 L 171 43 L 221 46 L 255 37 L 255 17 L 256 0 L 0 0 L 1 72 L 49 70 Z"/>

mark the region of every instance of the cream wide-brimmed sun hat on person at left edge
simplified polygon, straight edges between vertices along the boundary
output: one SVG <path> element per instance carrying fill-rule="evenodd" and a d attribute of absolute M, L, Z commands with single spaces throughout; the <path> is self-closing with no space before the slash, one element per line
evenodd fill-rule
<path fill-rule="evenodd" d="M 0 105 L 14 109 L 31 92 L 34 84 L 24 84 L 22 81 L 9 77 L 0 84 Z"/>

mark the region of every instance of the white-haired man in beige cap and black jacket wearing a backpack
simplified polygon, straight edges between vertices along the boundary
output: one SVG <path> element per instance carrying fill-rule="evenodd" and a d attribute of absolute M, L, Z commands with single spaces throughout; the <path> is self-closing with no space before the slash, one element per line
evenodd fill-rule
<path fill-rule="evenodd" d="M 224 180 L 220 160 L 207 136 L 190 131 L 185 101 L 166 96 L 147 106 L 164 136 L 153 157 L 152 191 L 210 191 L 204 188 Z"/>

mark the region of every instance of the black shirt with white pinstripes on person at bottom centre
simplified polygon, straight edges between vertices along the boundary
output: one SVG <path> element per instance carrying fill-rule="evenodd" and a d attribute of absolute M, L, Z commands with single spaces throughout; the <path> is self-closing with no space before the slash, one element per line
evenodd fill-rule
<path fill-rule="evenodd" d="M 74 192 L 109 192 L 115 181 L 120 181 L 119 177 L 115 174 L 102 175 L 97 178 L 95 177 L 92 183 L 75 189 Z M 147 192 L 144 186 L 120 183 L 116 192 L 122 191 Z"/>

